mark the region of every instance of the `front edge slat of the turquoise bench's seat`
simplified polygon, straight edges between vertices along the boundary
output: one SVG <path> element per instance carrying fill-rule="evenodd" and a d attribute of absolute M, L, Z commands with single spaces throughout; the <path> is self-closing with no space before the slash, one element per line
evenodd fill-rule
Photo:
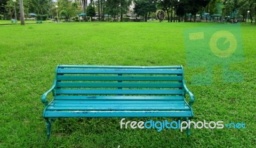
<path fill-rule="evenodd" d="M 45 111 L 44 117 L 193 117 L 188 111 Z"/>

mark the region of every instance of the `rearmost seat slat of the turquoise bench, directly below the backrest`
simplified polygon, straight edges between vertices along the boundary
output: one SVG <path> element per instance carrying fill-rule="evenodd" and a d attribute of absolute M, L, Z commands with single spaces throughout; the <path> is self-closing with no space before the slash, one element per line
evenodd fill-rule
<path fill-rule="evenodd" d="M 179 101 L 183 96 L 55 96 L 54 100 L 134 100 L 134 101 Z"/>

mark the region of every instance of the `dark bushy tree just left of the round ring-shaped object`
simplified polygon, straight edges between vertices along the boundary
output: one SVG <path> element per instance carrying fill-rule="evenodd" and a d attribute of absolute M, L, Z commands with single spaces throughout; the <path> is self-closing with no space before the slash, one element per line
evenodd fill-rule
<path fill-rule="evenodd" d="M 145 17 L 147 22 L 147 15 L 149 12 L 156 11 L 156 4 L 151 0 L 137 0 L 134 1 L 134 13 Z"/>

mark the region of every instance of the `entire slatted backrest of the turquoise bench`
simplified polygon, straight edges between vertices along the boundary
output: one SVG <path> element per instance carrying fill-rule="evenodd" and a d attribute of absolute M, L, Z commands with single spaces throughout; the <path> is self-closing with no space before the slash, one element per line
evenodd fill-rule
<path fill-rule="evenodd" d="M 57 95 L 182 95 L 182 66 L 58 66 Z"/>

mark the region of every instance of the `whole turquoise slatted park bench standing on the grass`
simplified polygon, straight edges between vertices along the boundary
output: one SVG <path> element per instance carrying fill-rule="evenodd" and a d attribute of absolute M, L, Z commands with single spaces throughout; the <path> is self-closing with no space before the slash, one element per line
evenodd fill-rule
<path fill-rule="evenodd" d="M 52 92 L 52 101 L 46 100 Z M 185 95 L 189 94 L 189 103 Z M 193 94 L 182 66 L 59 65 L 52 88 L 43 94 L 50 137 L 59 117 L 193 117 Z M 189 129 L 187 135 L 189 137 Z"/>

